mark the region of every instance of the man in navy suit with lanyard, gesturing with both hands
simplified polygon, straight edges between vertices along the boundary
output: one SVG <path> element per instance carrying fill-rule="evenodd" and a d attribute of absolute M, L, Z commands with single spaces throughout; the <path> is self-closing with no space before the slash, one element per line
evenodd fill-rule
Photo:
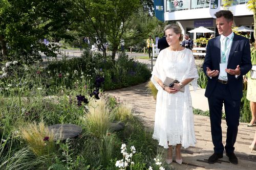
<path fill-rule="evenodd" d="M 209 157 L 208 163 L 215 163 L 223 157 L 221 117 L 224 103 L 227 124 L 226 155 L 231 163 L 238 164 L 233 146 L 239 126 L 243 75 L 252 67 L 250 43 L 247 38 L 232 32 L 233 14 L 230 11 L 221 10 L 215 16 L 220 36 L 208 41 L 203 64 L 208 78 L 205 96 L 208 98 L 214 144 L 214 154 Z"/>

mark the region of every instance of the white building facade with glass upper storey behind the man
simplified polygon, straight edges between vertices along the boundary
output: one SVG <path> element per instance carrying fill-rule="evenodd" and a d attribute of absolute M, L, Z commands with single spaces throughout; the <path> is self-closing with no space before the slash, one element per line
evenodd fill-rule
<path fill-rule="evenodd" d="M 253 29 L 253 13 L 248 10 L 246 3 L 249 0 L 234 0 L 228 10 L 232 11 L 234 15 L 234 27 L 246 26 Z M 221 10 L 224 10 L 224 1 L 221 0 Z M 164 20 L 177 21 L 182 29 L 182 33 L 186 34 L 188 31 L 203 26 L 207 29 L 215 31 L 218 36 L 216 28 L 216 19 L 212 18 L 209 12 L 210 0 L 164 0 Z M 188 33 L 191 39 L 198 37 L 209 37 L 210 34 L 202 33 Z M 253 33 L 251 33 L 253 37 Z"/>

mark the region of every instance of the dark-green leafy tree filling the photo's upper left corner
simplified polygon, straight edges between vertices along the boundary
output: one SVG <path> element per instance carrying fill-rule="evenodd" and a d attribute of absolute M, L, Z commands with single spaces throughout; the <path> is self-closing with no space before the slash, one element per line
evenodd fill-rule
<path fill-rule="evenodd" d="M 0 0 L 0 45 L 6 60 L 25 63 L 41 60 L 38 51 L 56 56 L 55 45 L 40 40 L 66 34 L 69 0 Z"/>

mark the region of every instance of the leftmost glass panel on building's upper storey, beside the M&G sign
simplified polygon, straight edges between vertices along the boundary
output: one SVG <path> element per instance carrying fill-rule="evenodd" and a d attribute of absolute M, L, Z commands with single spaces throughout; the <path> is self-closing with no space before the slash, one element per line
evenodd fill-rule
<path fill-rule="evenodd" d="M 167 0 L 166 11 L 174 12 L 181 10 L 188 10 L 190 0 Z"/>

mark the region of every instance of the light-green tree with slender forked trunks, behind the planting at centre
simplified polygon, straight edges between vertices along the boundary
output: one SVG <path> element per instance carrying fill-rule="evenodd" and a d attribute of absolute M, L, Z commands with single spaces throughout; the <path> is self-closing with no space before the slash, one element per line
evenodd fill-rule
<path fill-rule="evenodd" d="M 127 29 L 133 12 L 140 5 L 139 0 L 73 0 L 82 27 L 92 39 L 99 38 L 99 45 L 106 56 L 103 43 L 108 40 L 112 46 L 112 60 L 120 43 L 122 34 Z"/>

